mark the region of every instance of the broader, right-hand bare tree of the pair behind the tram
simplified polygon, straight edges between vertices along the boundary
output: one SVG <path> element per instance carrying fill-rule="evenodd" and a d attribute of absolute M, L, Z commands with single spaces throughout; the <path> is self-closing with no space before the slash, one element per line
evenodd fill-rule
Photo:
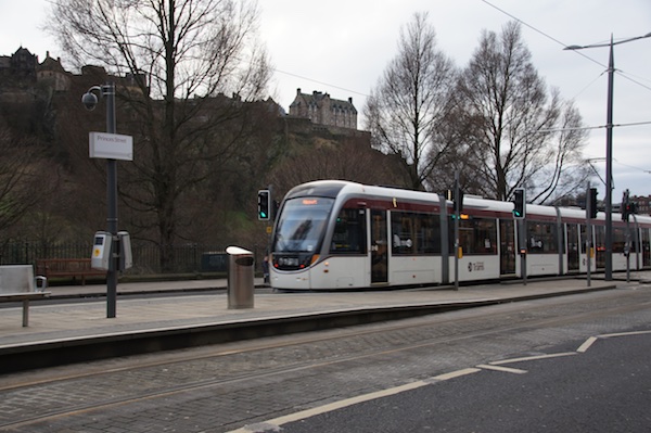
<path fill-rule="evenodd" d="M 462 106 L 457 122 L 473 128 L 464 149 L 481 179 L 476 192 L 507 200 L 527 187 L 542 202 L 572 183 L 569 167 L 579 162 L 585 139 L 580 115 L 558 91 L 548 95 L 518 23 L 499 36 L 484 31 L 456 95 Z"/>

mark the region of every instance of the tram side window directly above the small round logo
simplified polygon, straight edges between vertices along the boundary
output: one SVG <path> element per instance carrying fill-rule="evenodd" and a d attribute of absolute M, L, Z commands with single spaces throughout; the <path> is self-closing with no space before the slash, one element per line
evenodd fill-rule
<path fill-rule="evenodd" d="M 450 219 L 450 254 L 455 254 L 454 220 Z M 497 255 L 497 221 L 473 218 L 459 220 L 459 246 L 463 255 Z"/>

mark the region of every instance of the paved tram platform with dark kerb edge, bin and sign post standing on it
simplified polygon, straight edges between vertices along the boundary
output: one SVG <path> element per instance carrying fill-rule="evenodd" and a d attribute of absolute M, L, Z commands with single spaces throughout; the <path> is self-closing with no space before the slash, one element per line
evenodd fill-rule
<path fill-rule="evenodd" d="M 636 272 L 631 284 L 651 275 Z M 0 308 L 0 374 L 93 359 L 385 321 L 454 309 L 615 289 L 595 276 L 410 290 L 275 293 L 256 280 L 254 307 L 228 308 L 226 280 L 122 283 L 116 317 L 105 285 L 50 288 L 48 301 Z M 624 276 L 625 279 L 625 276 Z M 150 294 L 150 296 L 133 296 Z M 152 294 L 154 294 L 152 296 Z M 90 298 L 79 301 L 80 298 Z"/>

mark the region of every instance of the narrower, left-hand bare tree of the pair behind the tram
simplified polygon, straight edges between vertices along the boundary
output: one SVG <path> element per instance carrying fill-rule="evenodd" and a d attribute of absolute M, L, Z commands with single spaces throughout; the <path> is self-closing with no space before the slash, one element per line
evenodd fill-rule
<path fill-rule="evenodd" d="M 450 110 L 456 69 L 436 48 L 426 13 L 400 30 L 398 54 L 371 91 L 365 113 L 372 143 L 406 162 L 411 188 L 422 189 L 449 141 L 441 123 Z"/>

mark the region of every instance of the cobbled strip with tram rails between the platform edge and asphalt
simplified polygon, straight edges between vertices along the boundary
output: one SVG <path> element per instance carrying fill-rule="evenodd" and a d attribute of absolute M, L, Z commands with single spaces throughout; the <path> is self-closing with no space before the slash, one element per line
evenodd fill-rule
<path fill-rule="evenodd" d="M 610 300 L 615 294 L 602 294 L 590 301 L 590 306 L 582 307 L 570 300 L 556 300 L 553 308 L 548 303 L 535 304 L 533 307 L 528 305 L 526 308 L 516 305 L 488 307 L 472 314 L 436 315 L 398 323 L 229 345 L 225 351 L 202 352 L 199 356 L 194 352 L 177 354 L 171 358 L 163 357 L 164 359 L 120 366 L 107 371 L 64 374 L 42 380 L 30 380 L 30 375 L 25 374 L 23 382 L 0 385 L 0 413 L 11 415 L 7 418 L 0 415 L 0 429 L 21 429 L 43 421 L 133 406 L 146 400 L 217 391 L 244 382 L 259 382 L 326 368 L 343 368 L 347 362 L 368 361 L 371 365 L 373 359 L 388 355 L 404 355 L 435 346 L 468 345 L 472 341 L 498 339 L 532 329 L 560 328 L 600 317 L 628 315 L 651 306 L 650 301 L 640 302 L 635 296 L 623 303 L 622 295 L 627 292 L 617 292 L 618 305 L 610 305 Z M 238 364 L 241 366 L 238 367 Z M 226 369 L 228 371 L 225 373 L 218 371 L 227 366 L 232 369 Z M 178 382 L 167 380 L 174 375 L 187 379 Z M 133 386 L 117 392 L 118 387 L 125 386 L 125 382 L 145 383 L 148 380 L 154 381 L 149 389 Z M 46 396 L 41 398 L 47 399 L 48 393 L 53 392 L 52 398 L 55 399 L 58 395 L 77 387 L 92 390 L 102 385 L 115 386 L 115 394 L 92 395 L 90 391 L 81 391 L 79 395 L 82 398 L 78 400 L 71 398 L 67 402 L 41 404 L 40 412 L 21 411 L 24 399 L 29 396 Z"/>

